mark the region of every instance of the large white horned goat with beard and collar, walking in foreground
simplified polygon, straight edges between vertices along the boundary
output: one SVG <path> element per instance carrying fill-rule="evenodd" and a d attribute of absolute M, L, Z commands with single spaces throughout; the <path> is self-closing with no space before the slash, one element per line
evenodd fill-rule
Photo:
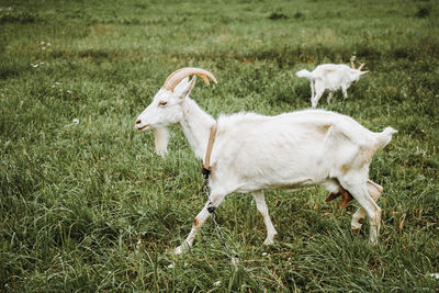
<path fill-rule="evenodd" d="M 191 75 L 202 77 L 207 84 L 206 76 L 216 82 L 206 70 L 179 69 L 168 77 L 135 122 L 138 131 L 154 131 L 160 155 L 167 151 L 166 127 L 179 124 L 196 157 L 205 157 L 204 165 L 211 169 L 210 199 L 176 253 L 192 246 L 211 209 L 216 209 L 232 192 L 252 193 L 267 227 L 264 244 L 271 245 L 277 230 L 262 190 L 315 184 L 333 193 L 352 194 L 361 205 L 352 218 L 352 229 L 361 227 L 360 219 L 367 214 L 370 240 L 376 244 L 381 209 L 375 200 L 382 188 L 368 179 L 369 165 L 375 151 L 392 139 L 395 129 L 386 127 L 382 133 L 373 133 L 349 116 L 323 110 L 278 116 L 238 113 L 221 115 L 215 121 L 189 98 L 195 84 L 195 77 L 188 78 Z M 215 137 L 214 143 L 211 137 Z"/>

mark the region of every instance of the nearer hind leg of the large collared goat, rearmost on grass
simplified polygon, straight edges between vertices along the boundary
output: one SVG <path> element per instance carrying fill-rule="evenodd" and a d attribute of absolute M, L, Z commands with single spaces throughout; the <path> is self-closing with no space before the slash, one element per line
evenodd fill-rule
<path fill-rule="evenodd" d="M 352 196 L 358 201 L 369 217 L 370 223 L 370 241 L 375 245 L 378 244 L 378 236 L 381 224 L 381 207 L 378 206 L 375 201 L 368 192 L 367 180 L 360 178 L 358 180 L 356 176 L 345 177 L 339 180 L 341 187 L 348 190 Z"/>

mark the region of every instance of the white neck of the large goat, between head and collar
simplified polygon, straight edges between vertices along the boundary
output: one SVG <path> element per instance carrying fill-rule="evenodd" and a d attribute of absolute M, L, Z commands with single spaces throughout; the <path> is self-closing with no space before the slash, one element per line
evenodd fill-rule
<path fill-rule="evenodd" d="M 211 127 L 215 123 L 215 120 L 201 110 L 195 101 L 185 98 L 183 120 L 180 125 L 195 156 L 200 159 L 204 159 Z"/>

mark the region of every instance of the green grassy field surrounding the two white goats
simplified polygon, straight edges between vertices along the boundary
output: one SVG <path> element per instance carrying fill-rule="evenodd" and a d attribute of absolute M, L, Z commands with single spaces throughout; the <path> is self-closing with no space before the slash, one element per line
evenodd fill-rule
<path fill-rule="evenodd" d="M 439 3 L 0 0 L 0 292 L 435 292 L 439 280 Z M 173 70 L 218 84 L 209 113 L 306 109 L 295 71 L 365 63 L 370 75 L 319 108 L 398 129 L 370 177 L 384 187 L 380 245 L 350 232 L 322 188 L 268 191 L 274 247 L 250 194 L 171 251 L 206 198 L 201 164 L 172 127 L 155 154 L 135 117 Z M 200 79 L 199 79 L 200 81 Z M 74 122 L 75 120 L 75 122 Z M 293 162 L 292 162 L 293 164 Z"/>

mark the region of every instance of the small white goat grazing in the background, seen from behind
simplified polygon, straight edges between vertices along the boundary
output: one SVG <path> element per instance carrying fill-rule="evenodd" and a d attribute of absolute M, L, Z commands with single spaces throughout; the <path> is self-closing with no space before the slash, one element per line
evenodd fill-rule
<path fill-rule="evenodd" d="M 311 104 L 313 108 L 317 106 L 325 90 L 329 91 L 328 103 L 333 99 L 334 92 L 341 89 L 342 94 L 348 98 L 347 90 L 350 84 L 358 81 L 360 77 L 369 71 L 361 71 L 364 64 L 360 65 L 358 69 L 353 63 L 352 68 L 344 64 L 323 64 L 316 67 L 312 72 L 306 69 L 297 71 L 297 77 L 306 77 L 311 80 Z"/>

